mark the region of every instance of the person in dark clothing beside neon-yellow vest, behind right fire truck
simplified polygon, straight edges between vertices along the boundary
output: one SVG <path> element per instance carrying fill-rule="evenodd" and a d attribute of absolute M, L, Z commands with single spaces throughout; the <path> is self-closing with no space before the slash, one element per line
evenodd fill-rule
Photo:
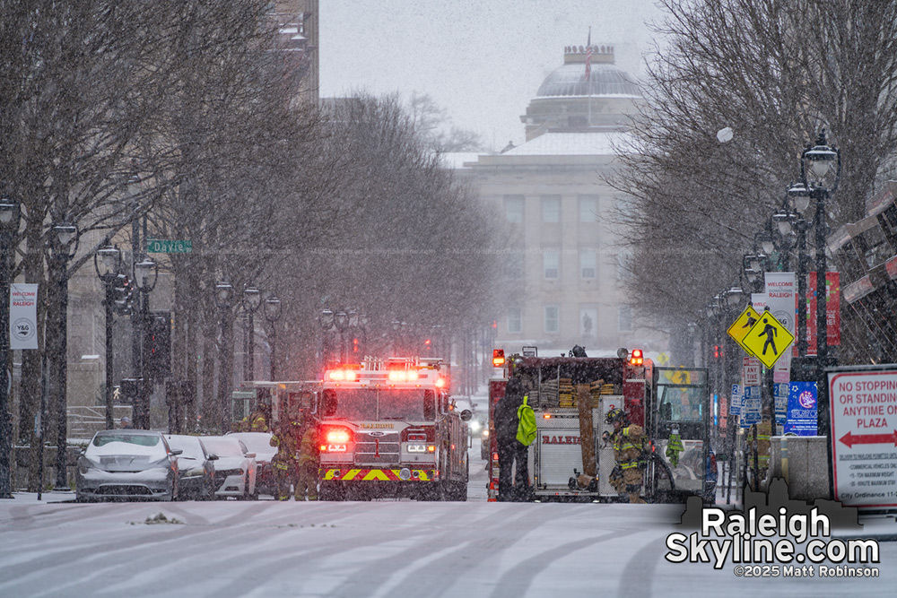
<path fill-rule="evenodd" d="M 498 499 L 501 501 L 529 498 L 528 447 L 517 439 L 520 423 L 517 411 L 523 399 L 523 383 L 519 378 L 512 377 L 505 386 L 504 396 L 495 404 L 495 440 L 499 449 Z"/>

